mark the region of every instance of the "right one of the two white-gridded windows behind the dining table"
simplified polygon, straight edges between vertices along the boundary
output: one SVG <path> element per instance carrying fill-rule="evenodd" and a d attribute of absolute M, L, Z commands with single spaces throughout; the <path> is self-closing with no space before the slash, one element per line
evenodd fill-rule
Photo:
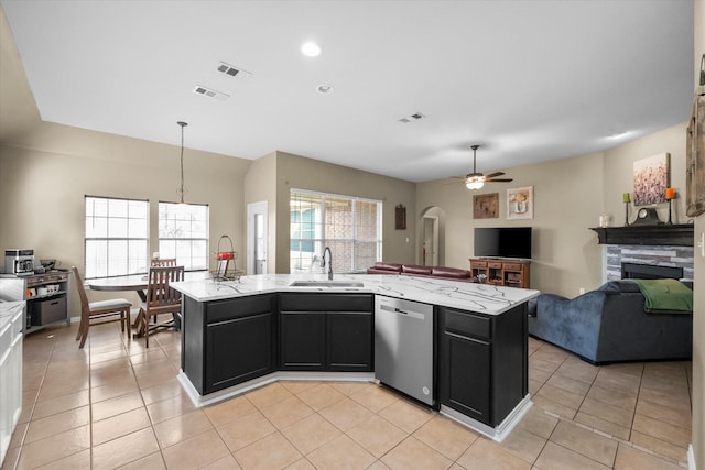
<path fill-rule="evenodd" d="M 159 203 L 159 255 L 186 271 L 208 269 L 208 206 Z"/>

